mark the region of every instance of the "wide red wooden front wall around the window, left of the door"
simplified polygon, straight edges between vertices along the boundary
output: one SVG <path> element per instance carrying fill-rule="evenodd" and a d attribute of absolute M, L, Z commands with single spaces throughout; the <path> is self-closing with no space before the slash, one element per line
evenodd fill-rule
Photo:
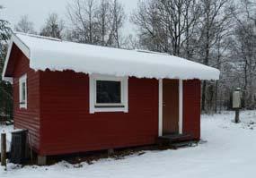
<path fill-rule="evenodd" d="M 40 72 L 41 155 L 153 144 L 158 81 L 128 79 L 128 113 L 89 114 L 89 77 Z"/>

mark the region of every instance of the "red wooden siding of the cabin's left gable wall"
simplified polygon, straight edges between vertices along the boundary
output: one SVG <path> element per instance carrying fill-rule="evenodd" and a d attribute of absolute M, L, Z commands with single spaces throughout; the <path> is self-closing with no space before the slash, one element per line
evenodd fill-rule
<path fill-rule="evenodd" d="M 13 46 L 10 61 L 13 64 L 13 117 L 14 127 L 28 129 L 31 145 L 35 150 L 40 148 L 40 74 L 29 67 L 29 59 L 22 55 L 22 51 Z M 11 68 L 9 68 L 10 70 Z M 19 78 L 27 73 L 27 109 L 19 104 Z"/>

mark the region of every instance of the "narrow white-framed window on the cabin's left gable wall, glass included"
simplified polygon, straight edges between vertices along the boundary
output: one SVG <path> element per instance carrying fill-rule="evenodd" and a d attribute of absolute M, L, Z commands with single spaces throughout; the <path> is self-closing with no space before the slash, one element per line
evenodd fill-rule
<path fill-rule="evenodd" d="M 20 108 L 27 108 L 27 75 L 23 75 L 19 80 Z"/>

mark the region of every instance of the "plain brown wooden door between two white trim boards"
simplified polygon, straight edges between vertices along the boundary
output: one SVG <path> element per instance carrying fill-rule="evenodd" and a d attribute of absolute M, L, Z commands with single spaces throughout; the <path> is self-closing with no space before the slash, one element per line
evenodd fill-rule
<path fill-rule="evenodd" d="M 179 80 L 163 80 L 163 134 L 179 132 Z"/>

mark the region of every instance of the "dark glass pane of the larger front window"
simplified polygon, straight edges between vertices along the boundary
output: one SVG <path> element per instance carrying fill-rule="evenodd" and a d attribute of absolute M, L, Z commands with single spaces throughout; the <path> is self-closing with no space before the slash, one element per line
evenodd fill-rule
<path fill-rule="evenodd" d="M 121 103 L 120 81 L 96 81 L 97 103 Z"/>

